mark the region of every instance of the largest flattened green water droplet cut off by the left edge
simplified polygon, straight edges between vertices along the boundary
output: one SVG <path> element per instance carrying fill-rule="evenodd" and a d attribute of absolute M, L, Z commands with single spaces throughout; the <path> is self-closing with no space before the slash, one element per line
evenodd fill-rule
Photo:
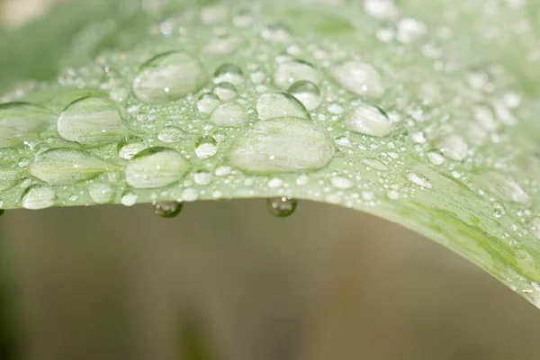
<path fill-rule="evenodd" d="M 56 121 L 54 113 L 30 103 L 0 104 L 0 148 L 11 148 L 40 136 Z"/>

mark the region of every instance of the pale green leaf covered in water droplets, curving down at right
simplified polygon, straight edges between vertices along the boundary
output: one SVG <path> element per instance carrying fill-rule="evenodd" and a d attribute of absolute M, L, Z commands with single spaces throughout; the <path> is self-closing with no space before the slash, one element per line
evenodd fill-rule
<path fill-rule="evenodd" d="M 4 30 L 0 207 L 330 202 L 540 307 L 540 5 L 175 3 L 83 0 Z"/>

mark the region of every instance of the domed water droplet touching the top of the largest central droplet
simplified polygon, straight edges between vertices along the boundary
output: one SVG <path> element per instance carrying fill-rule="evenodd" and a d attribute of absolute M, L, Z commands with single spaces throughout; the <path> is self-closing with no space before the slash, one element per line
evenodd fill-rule
<path fill-rule="evenodd" d="M 291 116 L 310 119 L 306 108 L 290 94 L 263 94 L 257 99 L 257 113 L 260 120 Z"/>

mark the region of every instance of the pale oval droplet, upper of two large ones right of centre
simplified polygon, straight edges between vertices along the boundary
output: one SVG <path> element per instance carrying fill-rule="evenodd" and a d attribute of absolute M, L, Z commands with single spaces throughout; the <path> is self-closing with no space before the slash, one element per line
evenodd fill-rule
<path fill-rule="evenodd" d="M 384 94 L 383 80 L 379 72 L 360 61 L 346 61 L 332 67 L 331 76 L 348 91 L 378 99 Z"/>

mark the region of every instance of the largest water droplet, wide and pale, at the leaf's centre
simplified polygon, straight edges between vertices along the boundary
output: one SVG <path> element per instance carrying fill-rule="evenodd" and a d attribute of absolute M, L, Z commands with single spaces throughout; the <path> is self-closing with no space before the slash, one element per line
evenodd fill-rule
<path fill-rule="evenodd" d="M 259 121 L 233 145 L 229 161 L 253 173 L 313 171 L 326 166 L 335 148 L 324 131 L 299 118 Z"/>

